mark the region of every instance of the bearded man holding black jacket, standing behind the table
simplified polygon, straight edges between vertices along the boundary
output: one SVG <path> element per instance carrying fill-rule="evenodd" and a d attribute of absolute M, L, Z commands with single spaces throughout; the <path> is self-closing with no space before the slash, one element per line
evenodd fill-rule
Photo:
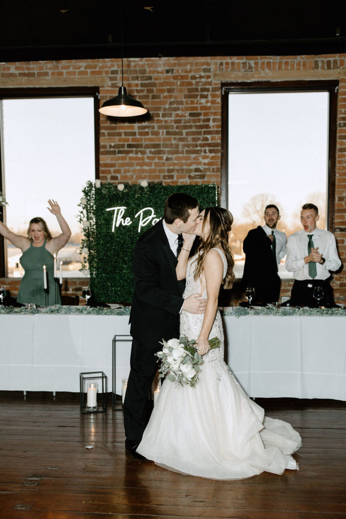
<path fill-rule="evenodd" d="M 245 252 L 242 288 L 255 289 L 253 303 L 273 303 L 279 300 L 281 279 L 278 265 L 286 254 L 287 237 L 276 229 L 280 220 L 278 207 L 269 204 L 264 214 L 265 225 L 251 229 L 243 242 Z"/>

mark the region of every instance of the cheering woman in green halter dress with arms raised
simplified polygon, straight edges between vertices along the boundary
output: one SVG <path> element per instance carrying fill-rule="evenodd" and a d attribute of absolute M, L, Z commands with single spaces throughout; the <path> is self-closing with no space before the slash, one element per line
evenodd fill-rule
<path fill-rule="evenodd" d="M 43 218 L 33 218 L 27 229 L 27 238 L 12 233 L 0 222 L 0 234 L 22 251 L 20 263 L 25 270 L 21 281 L 17 302 L 21 304 L 35 303 L 38 306 L 61 304 L 59 285 L 54 281 L 54 253 L 64 247 L 71 236 L 70 227 L 61 215 L 56 200 L 48 200 L 47 209 L 56 215 L 62 233 L 52 238 Z M 47 295 L 44 291 L 43 266 L 46 265 Z"/>

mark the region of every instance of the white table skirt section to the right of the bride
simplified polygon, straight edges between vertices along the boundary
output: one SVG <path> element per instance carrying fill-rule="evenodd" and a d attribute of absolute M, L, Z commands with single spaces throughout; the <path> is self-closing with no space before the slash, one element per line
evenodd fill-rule
<path fill-rule="evenodd" d="M 224 323 L 228 365 L 249 396 L 346 400 L 346 317 L 227 316 Z"/>

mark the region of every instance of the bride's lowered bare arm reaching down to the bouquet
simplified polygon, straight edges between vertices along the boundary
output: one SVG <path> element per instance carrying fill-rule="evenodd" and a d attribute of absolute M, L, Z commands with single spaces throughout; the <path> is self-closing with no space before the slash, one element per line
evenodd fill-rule
<path fill-rule="evenodd" d="M 209 251 L 204 261 L 207 303 L 200 334 L 196 340 L 201 355 L 209 351 L 208 337 L 217 311 L 218 295 L 224 275 L 224 264 L 217 251 Z"/>

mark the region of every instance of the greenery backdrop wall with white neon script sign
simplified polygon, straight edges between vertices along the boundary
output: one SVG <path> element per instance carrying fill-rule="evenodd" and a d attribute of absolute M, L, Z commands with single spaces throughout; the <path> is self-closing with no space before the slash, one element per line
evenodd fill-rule
<path fill-rule="evenodd" d="M 79 222 L 82 269 L 90 276 L 95 302 L 130 304 L 133 295 L 132 253 L 139 236 L 163 216 L 166 199 L 187 193 L 202 210 L 218 206 L 216 184 L 103 184 L 88 182 L 82 190 Z"/>

